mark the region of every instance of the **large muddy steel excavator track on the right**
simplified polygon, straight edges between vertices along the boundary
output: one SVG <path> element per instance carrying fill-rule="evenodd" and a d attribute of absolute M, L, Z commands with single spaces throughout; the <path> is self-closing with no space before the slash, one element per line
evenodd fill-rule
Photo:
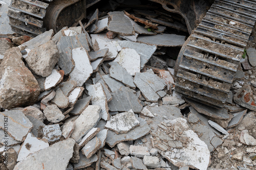
<path fill-rule="evenodd" d="M 223 107 L 256 20 L 254 0 L 216 0 L 181 48 L 175 90 Z"/>

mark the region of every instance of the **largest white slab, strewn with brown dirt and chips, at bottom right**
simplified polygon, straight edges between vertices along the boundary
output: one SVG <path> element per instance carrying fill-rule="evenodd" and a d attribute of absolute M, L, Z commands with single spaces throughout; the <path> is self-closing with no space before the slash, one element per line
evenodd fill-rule
<path fill-rule="evenodd" d="M 165 124 L 165 127 L 170 130 L 166 135 L 168 135 L 173 141 L 179 140 L 182 145 L 181 149 L 167 147 L 165 151 L 160 150 L 160 154 L 175 166 L 207 169 L 210 162 L 210 152 L 207 145 L 199 139 L 198 135 L 193 130 L 188 127 L 186 120 L 184 118 L 176 118 L 174 120 L 167 120 Z M 172 129 L 176 129 L 175 132 Z M 176 134 L 176 138 L 172 137 L 173 134 Z M 154 141 L 154 145 L 158 149 L 160 144 L 163 144 L 162 140 Z M 166 154 L 167 152 L 168 154 Z"/>

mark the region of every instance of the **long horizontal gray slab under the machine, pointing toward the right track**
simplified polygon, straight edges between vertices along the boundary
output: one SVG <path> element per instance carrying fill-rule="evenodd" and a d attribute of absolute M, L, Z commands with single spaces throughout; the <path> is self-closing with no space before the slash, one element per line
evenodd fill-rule
<path fill-rule="evenodd" d="M 137 38 L 137 41 L 148 45 L 182 46 L 185 42 L 185 36 L 176 34 L 141 35 Z"/>

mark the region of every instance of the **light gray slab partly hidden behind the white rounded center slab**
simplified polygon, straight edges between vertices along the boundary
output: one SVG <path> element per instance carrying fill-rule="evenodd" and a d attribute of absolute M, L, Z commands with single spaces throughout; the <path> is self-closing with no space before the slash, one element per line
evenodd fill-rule
<path fill-rule="evenodd" d="M 140 55 L 140 68 L 143 68 L 151 56 L 157 50 L 156 45 L 147 45 L 144 43 L 132 42 L 132 41 L 119 41 L 119 45 L 122 48 L 132 48 Z"/>

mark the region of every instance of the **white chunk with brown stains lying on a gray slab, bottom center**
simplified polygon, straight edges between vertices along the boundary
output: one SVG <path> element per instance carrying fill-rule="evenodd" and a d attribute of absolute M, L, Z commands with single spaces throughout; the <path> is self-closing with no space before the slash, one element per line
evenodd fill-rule
<path fill-rule="evenodd" d="M 106 122 L 105 128 L 114 131 L 116 134 L 127 133 L 140 124 L 132 110 L 111 116 Z"/>

